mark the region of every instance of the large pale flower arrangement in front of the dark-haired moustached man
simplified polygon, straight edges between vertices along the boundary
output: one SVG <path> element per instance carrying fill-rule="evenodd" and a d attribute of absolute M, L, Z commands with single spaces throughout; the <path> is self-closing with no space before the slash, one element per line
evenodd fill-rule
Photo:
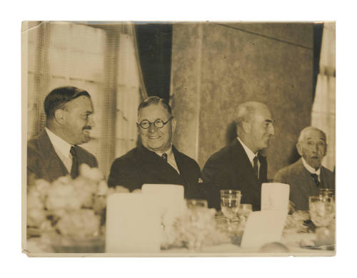
<path fill-rule="evenodd" d="M 82 164 L 79 172 L 74 180 L 67 175 L 28 186 L 27 234 L 40 235 L 42 242 L 58 247 L 55 252 L 91 252 L 91 244 L 100 245 L 95 252 L 104 252 L 106 197 L 129 190 L 109 188 L 98 168 Z"/>

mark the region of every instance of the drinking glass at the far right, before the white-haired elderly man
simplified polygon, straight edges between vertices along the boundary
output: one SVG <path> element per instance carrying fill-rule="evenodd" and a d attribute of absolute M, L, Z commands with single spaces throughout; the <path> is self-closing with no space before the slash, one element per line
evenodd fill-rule
<path fill-rule="evenodd" d="M 308 209 L 313 224 L 316 227 L 327 227 L 335 217 L 335 202 L 333 197 L 323 195 L 308 197 Z"/>

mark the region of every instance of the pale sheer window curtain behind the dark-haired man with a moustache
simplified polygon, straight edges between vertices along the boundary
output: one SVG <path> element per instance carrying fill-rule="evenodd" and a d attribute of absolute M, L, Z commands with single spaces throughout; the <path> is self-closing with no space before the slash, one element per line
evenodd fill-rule
<path fill-rule="evenodd" d="M 29 29 L 27 138 L 44 129 L 44 98 L 59 86 L 89 91 L 94 103 L 92 140 L 82 145 L 107 176 L 114 158 L 134 148 L 136 109 L 146 96 L 132 24 L 39 22 Z"/>

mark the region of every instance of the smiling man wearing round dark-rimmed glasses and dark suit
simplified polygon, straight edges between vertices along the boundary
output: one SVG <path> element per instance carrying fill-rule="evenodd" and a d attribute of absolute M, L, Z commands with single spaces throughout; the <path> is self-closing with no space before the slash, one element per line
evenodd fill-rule
<path fill-rule="evenodd" d="M 172 145 L 176 120 L 164 99 L 151 96 L 138 108 L 139 147 L 114 160 L 108 185 L 129 190 L 145 183 L 183 185 L 185 197 L 196 197 L 201 170 L 195 160 Z"/>

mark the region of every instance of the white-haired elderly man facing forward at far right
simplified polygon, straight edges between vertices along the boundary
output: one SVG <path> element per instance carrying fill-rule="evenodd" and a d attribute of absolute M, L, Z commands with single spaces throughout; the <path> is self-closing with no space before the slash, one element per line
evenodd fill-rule
<path fill-rule="evenodd" d="M 321 166 L 326 155 L 326 135 L 309 126 L 301 130 L 296 144 L 301 159 L 276 173 L 274 180 L 290 185 L 290 200 L 296 210 L 308 210 L 308 197 L 320 188 L 334 189 L 333 173 Z"/>

